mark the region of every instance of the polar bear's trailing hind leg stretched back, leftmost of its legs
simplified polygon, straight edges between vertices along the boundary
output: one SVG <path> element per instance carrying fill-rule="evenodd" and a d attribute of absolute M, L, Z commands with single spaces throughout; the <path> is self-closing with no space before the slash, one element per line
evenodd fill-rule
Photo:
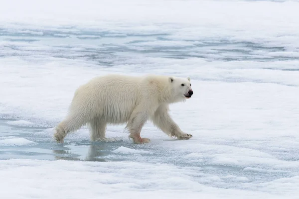
<path fill-rule="evenodd" d="M 87 123 L 87 118 L 83 115 L 68 115 L 55 127 L 54 138 L 58 143 L 63 143 L 65 136 L 78 130 Z"/>

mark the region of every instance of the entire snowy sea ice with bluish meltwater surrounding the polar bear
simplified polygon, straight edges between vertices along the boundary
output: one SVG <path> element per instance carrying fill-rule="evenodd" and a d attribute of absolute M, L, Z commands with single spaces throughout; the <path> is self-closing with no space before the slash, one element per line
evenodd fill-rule
<path fill-rule="evenodd" d="M 2 198 L 295 199 L 299 186 L 298 0 L 2 0 Z M 191 77 L 170 114 L 109 142 L 86 126 L 53 141 L 75 89 L 109 73 Z M 16 189 L 17 188 L 17 189 Z"/>

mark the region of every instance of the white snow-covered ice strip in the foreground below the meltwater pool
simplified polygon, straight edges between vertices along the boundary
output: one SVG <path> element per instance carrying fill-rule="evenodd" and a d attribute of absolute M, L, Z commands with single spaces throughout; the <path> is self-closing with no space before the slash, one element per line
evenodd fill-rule
<path fill-rule="evenodd" d="M 152 175 L 152 174 L 158 174 Z M 202 177 L 200 170 L 192 168 L 177 168 L 163 164 L 147 164 L 134 162 L 69 162 L 10 160 L 0 161 L 1 195 L 5 198 L 60 198 L 81 199 L 82 196 L 95 199 L 101 198 L 137 198 L 150 199 L 162 196 L 166 199 L 188 197 L 205 198 L 280 198 L 279 195 L 269 195 L 265 192 L 219 189 L 205 186 L 204 181 L 222 183 L 225 180 L 242 182 L 234 176 L 224 179 L 216 176 Z M 297 184 L 298 178 L 288 178 L 265 187 L 281 187 L 279 190 L 294 192 L 296 187 L 284 186 L 285 183 Z M 249 185 L 248 185 L 249 186 Z M 256 185 L 251 185 L 256 186 Z M 11 191 L 12 187 L 18 187 Z M 256 188 L 258 189 L 258 187 Z M 277 191 L 279 191 L 277 190 Z M 276 191 L 276 192 L 277 192 Z"/>

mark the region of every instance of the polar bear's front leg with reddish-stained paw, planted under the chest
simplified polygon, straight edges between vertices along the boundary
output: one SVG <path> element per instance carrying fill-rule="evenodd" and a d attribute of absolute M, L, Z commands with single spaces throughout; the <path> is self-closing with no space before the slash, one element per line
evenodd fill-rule
<path fill-rule="evenodd" d="M 148 114 L 145 112 L 132 113 L 130 120 L 126 126 L 129 129 L 129 137 L 133 139 L 135 144 L 149 143 L 149 138 L 142 138 L 140 136 L 141 129 L 148 120 Z"/>

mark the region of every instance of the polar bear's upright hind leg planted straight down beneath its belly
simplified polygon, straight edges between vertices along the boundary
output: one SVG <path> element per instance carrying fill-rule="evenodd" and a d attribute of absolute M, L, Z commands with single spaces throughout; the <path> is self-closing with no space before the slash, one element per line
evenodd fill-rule
<path fill-rule="evenodd" d="M 90 121 L 91 141 L 104 140 L 106 134 L 106 126 L 107 126 L 107 122 L 101 120 L 100 117 L 95 117 L 94 119 L 92 119 Z"/>

